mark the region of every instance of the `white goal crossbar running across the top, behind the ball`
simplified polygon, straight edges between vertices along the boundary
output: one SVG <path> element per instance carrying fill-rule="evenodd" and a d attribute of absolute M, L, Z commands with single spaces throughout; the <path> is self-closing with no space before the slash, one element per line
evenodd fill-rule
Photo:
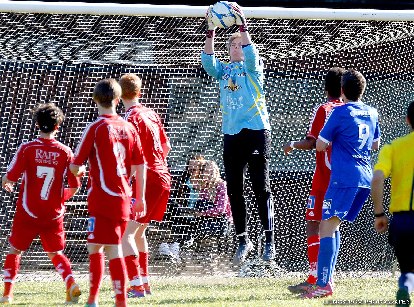
<path fill-rule="evenodd" d="M 0 12 L 204 17 L 203 5 L 149 5 L 0 0 Z M 247 18 L 414 21 L 414 10 L 243 7 Z"/>

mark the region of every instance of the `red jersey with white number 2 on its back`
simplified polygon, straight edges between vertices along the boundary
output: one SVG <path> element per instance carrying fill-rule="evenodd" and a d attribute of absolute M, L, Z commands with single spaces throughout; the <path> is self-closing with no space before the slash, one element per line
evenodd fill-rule
<path fill-rule="evenodd" d="M 146 163 L 135 128 L 118 115 L 99 116 L 83 131 L 72 164 L 87 157 L 89 213 L 129 220 L 131 165 Z"/>

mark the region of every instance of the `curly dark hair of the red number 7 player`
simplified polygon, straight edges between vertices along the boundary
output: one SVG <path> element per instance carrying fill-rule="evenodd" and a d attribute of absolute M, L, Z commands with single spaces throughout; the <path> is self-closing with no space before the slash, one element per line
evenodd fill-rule
<path fill-rule="evenodd" d="M 55 127 L 65 119 L 65 115 L 53 103 L 41 104 L 33 110 L 33 114 L 39 124 L 40 131 L 45 133 L 55 130 Z"/>

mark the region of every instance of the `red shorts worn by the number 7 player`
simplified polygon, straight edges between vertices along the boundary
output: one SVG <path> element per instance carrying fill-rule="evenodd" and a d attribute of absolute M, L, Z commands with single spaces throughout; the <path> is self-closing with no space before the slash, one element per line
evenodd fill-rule
<path fill-rule="evenodd" d="M 39 234 L 43 250 L 46 253 L 55 253 L 65 249 L 65 230 L 63 230 L 63 218 L 51 220 L 50 223 L 36 225 L 37 219 L 28 222 L 25 219 L 14 216 L 12 230 L 10 231 L 10 246 L 18 251 L 26 251 Z"/>

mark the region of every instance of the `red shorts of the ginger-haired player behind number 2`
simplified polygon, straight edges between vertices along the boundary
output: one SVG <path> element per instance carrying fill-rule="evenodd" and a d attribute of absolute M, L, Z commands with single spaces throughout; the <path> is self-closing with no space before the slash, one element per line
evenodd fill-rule
<path fill-rule="evenodd" d="M 145 202 L 147 203 L 147 214 L 143 218 L 135 220 L 130 215 L 130 219 L 141 225 L 148 224 L 151 221 L 162 222 L 167 208 L 168 197 L 170 190 L 165 189 L 153 181 L 147 180 L 147 187 L 145 188 Z M 135 198 L 131 199 L 131 208 L 134 204 Z"/>

